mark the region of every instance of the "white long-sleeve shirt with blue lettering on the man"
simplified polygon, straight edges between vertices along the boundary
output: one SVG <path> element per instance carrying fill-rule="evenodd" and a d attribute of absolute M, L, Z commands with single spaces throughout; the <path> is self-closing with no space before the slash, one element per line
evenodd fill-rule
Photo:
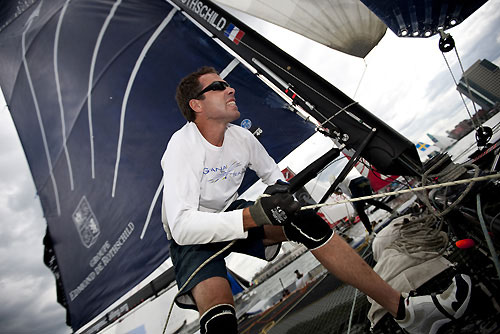
<path fill-rule="evenodd" d="M 268 185 L 283 178 L 252 133 L 233 124 L 217 147 L 188 122 L 170 139 L 161 165 L 162 221 L 180 245 L 246 238 L 242 210 L 224 212 L 238 197 L 246 169 Z"/>

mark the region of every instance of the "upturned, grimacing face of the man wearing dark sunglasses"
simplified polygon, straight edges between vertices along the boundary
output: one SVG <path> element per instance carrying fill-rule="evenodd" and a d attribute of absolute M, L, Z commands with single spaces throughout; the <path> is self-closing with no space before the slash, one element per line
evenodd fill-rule
<path fill-rule="evenodd" d="M 201 87 L 204 89 L 214 81 L 224 81 L 215 73 L 204 74 L 199 78 Z M 223 91 L 211 90 L 203 94 L 204 99 L 197 100 L 200 103 L 199 117 L 205 120 L 229 123 L 240 117 L 240 112 L 236 106 L 234 89 L 226 87 Z"/>

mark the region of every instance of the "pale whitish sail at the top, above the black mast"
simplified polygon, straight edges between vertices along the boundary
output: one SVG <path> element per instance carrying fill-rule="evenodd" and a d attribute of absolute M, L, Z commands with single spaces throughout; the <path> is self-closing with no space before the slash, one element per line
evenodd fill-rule
<path fill-rule="evenodd" d="M 313 41 L 364 58 L 387 26 L 358 0 L 217 0 Z"/>

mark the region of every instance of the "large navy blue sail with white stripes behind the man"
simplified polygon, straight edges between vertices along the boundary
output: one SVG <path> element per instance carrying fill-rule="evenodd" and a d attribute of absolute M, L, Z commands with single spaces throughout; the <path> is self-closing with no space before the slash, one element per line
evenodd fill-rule
<path fill-rule="evenodd" d="M 220 71 L 236 89 L 235 123 L 258 134 L 276 161 L 313 133 L 168 2 L 4 4 L 0 85 L 47 220 L 45 260 L 74 330 L 169 257 L 160 159 L 185 123 L 174 99 L 183 76 L 203 65 Z"/>

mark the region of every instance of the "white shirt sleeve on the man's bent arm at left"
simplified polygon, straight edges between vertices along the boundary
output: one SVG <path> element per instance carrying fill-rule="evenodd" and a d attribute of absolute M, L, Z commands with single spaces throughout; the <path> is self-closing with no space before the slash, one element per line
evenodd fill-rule
<path fill-rule="evenodd" d="M 247 237 L 242 210 L 199 211 L 203 157 L 186 149 L 185 141 L 177 142 L 172 137 L 161 164 L 162 205 L 170 233 L 178 244 L 206 244 Z"/>

